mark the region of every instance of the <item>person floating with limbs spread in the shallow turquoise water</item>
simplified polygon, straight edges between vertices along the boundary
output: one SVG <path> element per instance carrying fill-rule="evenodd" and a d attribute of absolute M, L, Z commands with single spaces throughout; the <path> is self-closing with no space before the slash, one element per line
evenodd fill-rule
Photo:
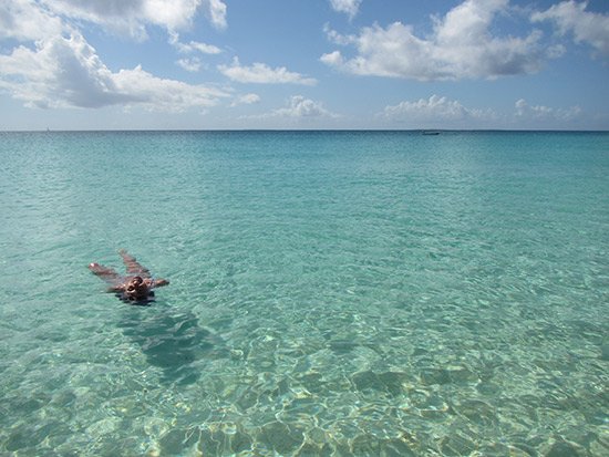
<path fill-rule="evenodd" d="M 110 284 L 109 292 L 116 293 L 121 300 L 133 304 L 145 304 L 154 298 L 154 288 L 167 285 L 166 279 L 153 279 L 151 271 L 142 267 L 135 257 L 127 251 L 118 251 L 126 268 L 126 276 L 121 276 L 114 269 L 93 262 L 89 264 L 91 272 Z"/>

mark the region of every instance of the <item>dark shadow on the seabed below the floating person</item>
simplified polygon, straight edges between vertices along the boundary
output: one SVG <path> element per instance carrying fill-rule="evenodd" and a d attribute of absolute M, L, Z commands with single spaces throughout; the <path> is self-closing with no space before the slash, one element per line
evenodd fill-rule
<path fill-rule="evenodd" d="M 123 334 L 142 347 L 151 365 L 163 370 L 163 383 L 187 385 L 197 382 L 200 367 L 195 362 L 225 356 L 221 341 L 202 329 L 189 311 L 146 307 L 124 313 Z"/>

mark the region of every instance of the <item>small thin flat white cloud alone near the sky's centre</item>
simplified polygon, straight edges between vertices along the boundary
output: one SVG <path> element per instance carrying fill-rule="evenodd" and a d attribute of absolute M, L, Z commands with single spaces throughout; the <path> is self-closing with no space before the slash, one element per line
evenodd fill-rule
<path fill-rule="evenodd" d="M 242 66 L 237 58 L 233 65 L 218 65 L 218 70 L 227 77 L 239 83 L 256 84 L 303 84 L 314 85 L 317 81 L 300 73 L 288 71 L 285 66 L 271 69 L 264 63 Z"/>

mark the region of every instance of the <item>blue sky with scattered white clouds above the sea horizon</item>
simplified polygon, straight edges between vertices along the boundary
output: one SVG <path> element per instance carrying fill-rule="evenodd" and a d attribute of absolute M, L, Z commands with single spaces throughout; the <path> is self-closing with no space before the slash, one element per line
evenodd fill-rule
<path fill-rule="evenodd" d="M 2 0 L 0 129 L 609 129 L 607 0 Z"/>

